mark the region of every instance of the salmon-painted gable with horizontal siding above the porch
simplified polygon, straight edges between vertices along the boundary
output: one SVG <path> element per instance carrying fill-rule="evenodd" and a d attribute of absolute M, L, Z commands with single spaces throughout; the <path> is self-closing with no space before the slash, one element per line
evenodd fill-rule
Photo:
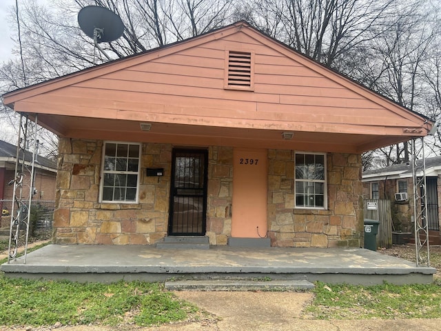
<path fill-rule="evenodd" d="M 253 88 L 225 88 L 229 50 L 252 57 Z M 363 152 L 433 123 L 245 22 L 7 93 L 64 137 Z M 152 123 L 149 134 L 139 124 Z M 291 141 L 282 132 L 294 132 Z"/>

